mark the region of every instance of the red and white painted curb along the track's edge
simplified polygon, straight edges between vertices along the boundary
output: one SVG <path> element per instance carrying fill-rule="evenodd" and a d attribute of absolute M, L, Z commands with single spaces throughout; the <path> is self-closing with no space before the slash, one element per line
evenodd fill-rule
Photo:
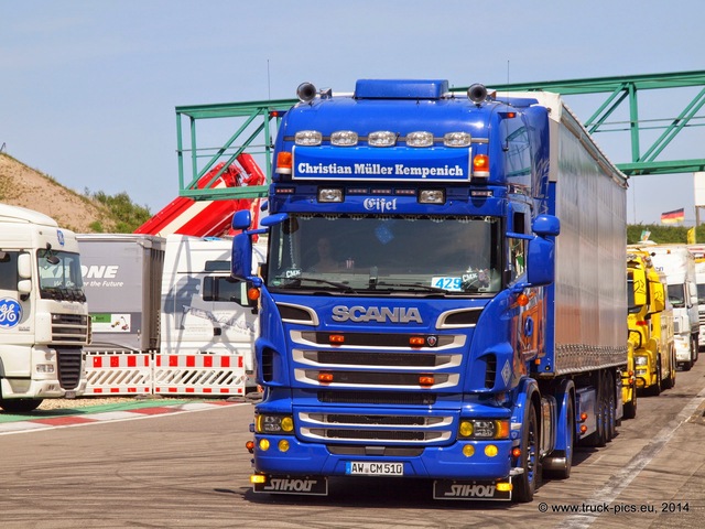
<path fill-rule="evenodd" d="M 28 419 L 24 421 L 11 421 L 0 423 L 0 435 L 23 432 L 36 432 L 54 428 L 85 427 L 87 424 L 98 424 L 111 421 L 132 421 L 135 419 L 147 419 L 165 414 L 189 413 L 194 411 L 206 411 L 224 406 L 242 406 L 246 402 L 187 402 L 181 404 L 154 406 L 148 408 L 135 408 L 133 410 L 87 412 L 82 414 L 67 414 L 58 417 L 46 417 Z"/>

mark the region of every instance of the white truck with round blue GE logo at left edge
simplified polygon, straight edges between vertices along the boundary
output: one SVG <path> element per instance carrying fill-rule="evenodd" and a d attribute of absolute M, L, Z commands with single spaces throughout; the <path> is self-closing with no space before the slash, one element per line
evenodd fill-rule
<path fill-rule="evenodd" d="M 90 322 L 73 231 L 0 204 L 0 408 L 29 412 L 86 387 Z"/>

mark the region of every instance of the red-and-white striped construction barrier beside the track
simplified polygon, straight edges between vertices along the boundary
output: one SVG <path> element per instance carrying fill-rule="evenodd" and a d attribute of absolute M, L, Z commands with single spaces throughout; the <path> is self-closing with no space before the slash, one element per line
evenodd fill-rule
<path fill-rule="evenodd" d="M 241 355 L 86 352 L 86 396 L 188 395 L 245 397 Z"/>

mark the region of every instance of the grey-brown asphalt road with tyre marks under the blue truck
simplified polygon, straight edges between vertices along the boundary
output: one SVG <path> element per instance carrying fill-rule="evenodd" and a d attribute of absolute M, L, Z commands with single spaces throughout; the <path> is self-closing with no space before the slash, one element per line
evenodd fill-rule
<path fill-rule="evenodd" d="M 0 434 L 0 527 L 705 527 L 705 359 L 639 400 L 604 449 L 531 504 L 434 501 L 431 484 L 334 481 L 328 497 L 250 490 L 249 403 Z"/>

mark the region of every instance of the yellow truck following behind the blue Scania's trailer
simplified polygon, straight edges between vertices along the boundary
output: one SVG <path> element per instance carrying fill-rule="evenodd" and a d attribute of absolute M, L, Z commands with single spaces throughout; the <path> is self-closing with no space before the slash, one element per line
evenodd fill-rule
<path fill-rule="evenodd" d="M 648 250 L 628 247 L 627 282 L 627 325 L 637 388 L 646 395 L 659 395 L 675 385 L 676 366 L 665 277 L 657 271 Z"/>

